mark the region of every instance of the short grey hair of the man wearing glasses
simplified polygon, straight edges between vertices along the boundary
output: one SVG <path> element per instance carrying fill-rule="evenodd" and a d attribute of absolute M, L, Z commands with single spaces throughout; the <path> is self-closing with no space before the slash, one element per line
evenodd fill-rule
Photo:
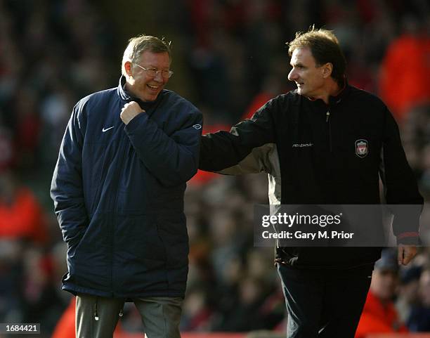
<path fill-rule="evenodd" d="M 151 53 L 168 53 L 169 60 L 171 61 L 171 41 L 167 42 L 157 37 L 151 37 L 150 35 L 139 35 L 138 37 L 132 37 L 129 39 L 129 45 L 124 51 L 124 56 L 122 57 L 121 70 L 122 74 L 126 76 L 126 71 L 124 68 L 124 63 L 130 61 L 131 63 L 137 63 L 141 58 L 144 51 L 150 51 Z"/>

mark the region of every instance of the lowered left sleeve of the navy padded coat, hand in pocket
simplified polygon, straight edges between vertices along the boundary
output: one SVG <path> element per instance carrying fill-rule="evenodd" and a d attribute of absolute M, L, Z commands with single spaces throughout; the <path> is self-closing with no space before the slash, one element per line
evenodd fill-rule
<path fill-rule="evenodd" d="M 79 121 L 79 110 L 76 105 L 67 124 L 51 182 L 51 198 L 63 240 L 70 244 L 79 242 L 89 223 L 82 188 L 84 121 Z"/>

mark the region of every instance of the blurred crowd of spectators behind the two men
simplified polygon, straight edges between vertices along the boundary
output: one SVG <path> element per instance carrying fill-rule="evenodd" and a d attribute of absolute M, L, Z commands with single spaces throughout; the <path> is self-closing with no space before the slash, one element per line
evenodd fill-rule
<path fill-rule="evenodd" d="M 100 6 L 113 2 L 0 0 L 0 323 L 41 323 L 41 337 L 50 337 L 71 300 L 60 291 L 66 249 L 48 195 L 51 175 L 74 103 L 117 86 L 129 36 L 102 14 Z M 294 32 L 311 24 L 334 30 L 348 81 L 389 105 L 430 201 L 428 1 L 169 0 L 157 4 L 163 15 L 146 11 L 149 2 L 136 11 L 169 27 L 173 69 L 182 75 L 168 88 L 202 110 L 204 131 L 229 129 L 294 89 L 285 46 Z M 136 34 L 159 34 L 142 22 L 134 23 Z M 182 330 L 285 328 L 273 249 L 253 247 L 253 206 L 268 203 L 267 189 L 264 175 L 200 172 L 190 181 Z M 428 229 L 427 203 L 422 227 Z M 382 283 L 410 331 L 430 330 L 424 325 L 430 323 L 429 257 L 422 248 L 390 285 Z M 140 330 L 138 313 L 124 310 L 122 328 Z"/>

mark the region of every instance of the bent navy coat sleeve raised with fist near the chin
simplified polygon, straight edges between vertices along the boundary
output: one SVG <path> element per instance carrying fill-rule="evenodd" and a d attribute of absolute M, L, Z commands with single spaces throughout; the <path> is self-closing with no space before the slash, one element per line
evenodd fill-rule
<path fill-rule="evenodd" d="M 202 114 L 196 108 L 178 130 L 167 135 L 143 112 L 125 126 L 131 145 L 150 172 L 164 186 L 185 183 L 197 172 Z"/>

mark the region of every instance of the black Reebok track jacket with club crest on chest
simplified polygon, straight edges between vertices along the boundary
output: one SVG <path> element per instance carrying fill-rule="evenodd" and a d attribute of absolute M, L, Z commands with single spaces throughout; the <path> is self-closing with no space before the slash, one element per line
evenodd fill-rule
<path fill-rule="evenodd" d="M 270 204 L 422 204 L 398 126 L 376 96 L 346 85 L 339 96 L 310 100 L 297 90 L 269 100 L 252 117 L 202 137 L 200 169 L 267 172 Z M 406 223 L 406 224 L 405 224 Z M 393 223 L 400 243 L 417 244 L 419 216 Z M 377 247 L 284 247 L 297 268 L 352 268 L 379 259 Z"/>

